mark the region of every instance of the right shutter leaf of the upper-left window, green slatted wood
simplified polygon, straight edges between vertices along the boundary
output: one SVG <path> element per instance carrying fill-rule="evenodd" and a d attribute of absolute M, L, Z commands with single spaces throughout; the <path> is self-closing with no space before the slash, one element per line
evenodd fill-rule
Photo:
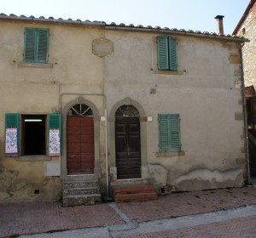
<path fill-rule="evenodd" d="M 38 29 L 38 62 L 48 59 L 49 30 Z"/>

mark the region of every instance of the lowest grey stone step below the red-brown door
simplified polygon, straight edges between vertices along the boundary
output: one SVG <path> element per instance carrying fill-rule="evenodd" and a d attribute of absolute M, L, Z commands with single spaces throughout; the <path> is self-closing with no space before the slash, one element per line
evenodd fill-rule
<path fill-rule="evenodd" d="M 96 202 L 101 202 L 102 196 L 100 194 L 90 195 L 67 195 L 63 197 L 63 206 L 78 206 L 78 205 L 90 205 Z"/>

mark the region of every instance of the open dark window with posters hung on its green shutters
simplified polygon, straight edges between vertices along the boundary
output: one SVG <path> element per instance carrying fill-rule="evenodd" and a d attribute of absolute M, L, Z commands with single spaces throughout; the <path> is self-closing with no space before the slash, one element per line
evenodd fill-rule
<path fill-rule="evenodd" d="M 46 143 L 47 140 L 47 143 Z M 61 154 L 61 114 L 5 115 L 5 156 Z"/>

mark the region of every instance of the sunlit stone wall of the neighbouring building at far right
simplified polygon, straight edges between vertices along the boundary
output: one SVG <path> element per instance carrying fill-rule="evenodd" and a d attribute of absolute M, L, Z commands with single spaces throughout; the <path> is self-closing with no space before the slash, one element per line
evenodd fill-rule
<path fill-rule="evenodd" d="M 243 30 L 244 29 L 244 30 Z M 250 42 L 246 42 L 242 48 L 242 57 L 244 65 L 245 84 L 247 86 L 256 86 L 256 3 L 250 10 L 247 18 L 241 25 L 237 35 L 246 37 Z"/>

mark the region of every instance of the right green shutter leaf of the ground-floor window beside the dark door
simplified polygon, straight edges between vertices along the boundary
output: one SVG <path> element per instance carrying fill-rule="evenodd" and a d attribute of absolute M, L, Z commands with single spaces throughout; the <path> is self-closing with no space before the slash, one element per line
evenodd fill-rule
<path fill-rule="evenodd" d="M 180 127 L 179 127 L 179 115 L 172 114 L 169 115 L 169 127 L 171 128 L 171 139 L 170 139 L 170 150 L 179 151 L 180 150 Z"/>

